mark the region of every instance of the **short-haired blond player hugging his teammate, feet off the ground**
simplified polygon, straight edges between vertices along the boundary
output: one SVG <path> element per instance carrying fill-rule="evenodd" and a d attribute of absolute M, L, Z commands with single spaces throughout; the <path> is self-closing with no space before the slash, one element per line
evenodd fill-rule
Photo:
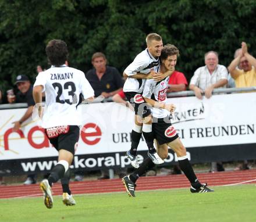
<path fill-rule="evenodd" d="M 172 73 L 168 71 L 164 75 L 159 75 L 151 71 L 155 67 L 159 67 L 159 56 L 163 46 L 161 36 L 156 33 L 148 34 L 146 42 L 147 48 L 139 53 L 124 71 L 124 75 L 128 78 L 123 86 L 123 92 L 125 92 L 126 98 L 134 107 L 135 112 L 135 124 L 131 131 L 131 148 L 126 154 L 131 160 L 131 166 L 135 168 L 138 168 L 137 147 L 141 134 L 143 134 L 148 146 L 148 156 L 155 164 L 163 163 L 163 160 L 158 156 L 154 148 L 150 106 L 144 101 L 141 93 L 147 78 L 154 78 L 159 81 L 163 76 Z"/>

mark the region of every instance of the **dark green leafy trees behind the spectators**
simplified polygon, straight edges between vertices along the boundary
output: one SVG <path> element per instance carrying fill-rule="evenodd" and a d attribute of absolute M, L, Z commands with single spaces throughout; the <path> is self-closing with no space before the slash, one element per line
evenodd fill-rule
<path fill-rule="evenodd" d="M 35 66 L 48 67 L 45 44 L 61 38 L 69 46 L 70 66 L 87 71 L 91 55 L 101 51 L 122 73 L 156 32 L 163 43 L 180 49 L 177 70 L 190 80 L 204 65 L 204 53 L 219 53 L 228 66 L 241 41 L 255 51 L 254 0 L 52 0 L 0 1 L 0 88 L 17 74 L 34 80 Z"/>

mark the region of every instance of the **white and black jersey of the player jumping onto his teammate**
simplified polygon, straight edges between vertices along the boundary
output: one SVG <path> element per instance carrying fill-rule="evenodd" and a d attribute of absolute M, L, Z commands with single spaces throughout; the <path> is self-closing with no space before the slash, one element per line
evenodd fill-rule
<path fill-rule="evenodd" d="M 133 76 L 138 72 L 143 74 L 150 73 L 152 68 L 159 66 L 159 58 L 155 59 L 154 56 L 148 52 L 148 49 L 145 49 L 139 53 L 133 62 L 127 66 L 125 73 L 127 76 Z M 123 86 L 124 92 L 139 92 L 143 91 L 145 79 L 136 79 L 136 78 L 127 78 L 125 85 Z"/>

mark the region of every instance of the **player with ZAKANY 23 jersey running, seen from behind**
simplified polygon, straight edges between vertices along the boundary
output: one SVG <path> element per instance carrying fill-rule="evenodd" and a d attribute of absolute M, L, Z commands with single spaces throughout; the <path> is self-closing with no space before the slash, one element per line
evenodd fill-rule
<path fill-rule="evenodd" d="M 54 202 L 51 187 L 59 179 L 68 177 L 74 152 L 79 141 L 81 123 L 77 111 L 80 93 L 84 99 L 94 97 L 93 88 L 86 80 L 83 71 L 67 67 L 67 45 L 62 40 L 51 40 L 45 49 L 51 68 L 38 74 L 34 83 L 33 97 L 42 116 L 42 127 L 52 145 L 59 152 L 58 163 L 48 179 L 42 180 L 40 188 L 44 194 L 44 204 L 52 208 Z M 42 114 L 42 92 L 45 92 L 45 109 Z M 63 193 L 63 203 L 74 205 L 68 182 Z"/>

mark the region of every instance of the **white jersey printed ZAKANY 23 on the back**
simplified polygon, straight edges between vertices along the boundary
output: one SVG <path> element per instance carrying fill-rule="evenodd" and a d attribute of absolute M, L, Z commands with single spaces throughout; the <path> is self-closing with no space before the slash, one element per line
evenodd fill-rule
<path fill-rule="evenodd" d="M 45 109 L 42 127 L 80 126 L 81 116 L 77 111 L 79 95 L 84 99 L 94 96 L 94 90 L 83 71 L 62 65 L 52 66 L 38 73 L 34 87 L 42 85 L 45 91 Z"/>

